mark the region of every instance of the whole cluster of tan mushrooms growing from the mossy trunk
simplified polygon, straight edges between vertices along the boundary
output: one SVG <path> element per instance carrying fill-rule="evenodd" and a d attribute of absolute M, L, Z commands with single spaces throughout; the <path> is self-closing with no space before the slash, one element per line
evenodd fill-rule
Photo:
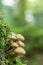
<path fill-rule="evenodd" d="M 8 36 L 7 41 L 10 43 L 10 47 L 8 48 L 8 53 L 10 56 L 19 56 L 25 55 L 26 52 L 24 50 L 24 43 L 22 42 L 25 38 L 21 34 L 15 34 L 13 32 Z"/>

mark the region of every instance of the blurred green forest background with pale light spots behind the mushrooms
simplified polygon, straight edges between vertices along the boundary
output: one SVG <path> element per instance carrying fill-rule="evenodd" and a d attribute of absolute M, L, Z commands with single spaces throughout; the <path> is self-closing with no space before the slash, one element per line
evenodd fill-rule
<path fill-rule="evenodd" d="M 0 14 L 25 37 L 27 65 L 43 65 L 43 0 L 0 0 Z"/>

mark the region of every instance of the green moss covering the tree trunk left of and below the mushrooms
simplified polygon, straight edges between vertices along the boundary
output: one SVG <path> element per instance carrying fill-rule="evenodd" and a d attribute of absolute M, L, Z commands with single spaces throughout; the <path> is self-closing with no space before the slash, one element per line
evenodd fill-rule
<path fill-rule="evenodd" d="M 11 57 L 8 48 L 11 46 L 7 41 L 11 30 L 8 24 L 0 16 L 0 65 L 22 65 L 19 57 Z"/>

